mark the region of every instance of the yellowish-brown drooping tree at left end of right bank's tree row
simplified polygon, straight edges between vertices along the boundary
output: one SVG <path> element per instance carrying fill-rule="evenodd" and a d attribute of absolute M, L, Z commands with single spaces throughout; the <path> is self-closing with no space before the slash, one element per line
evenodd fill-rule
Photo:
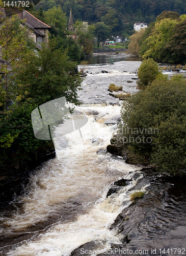
<path fill-rule="evenodd" d="M 140 42 L 145 33 L 144 29 L 141 29 L 139 32 L 136 31 L 133 35 L 130 36 L 130 42 L 128 45 L 127 52 L 136 56 L 140 56 Z"/>

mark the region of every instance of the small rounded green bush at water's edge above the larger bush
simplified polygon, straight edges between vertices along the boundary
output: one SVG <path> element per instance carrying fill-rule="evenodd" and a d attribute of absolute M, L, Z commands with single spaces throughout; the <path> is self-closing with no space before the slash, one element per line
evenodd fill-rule
<path fill-rule="evenodd" d="M 140 68 L 138 69 L 138 78 L 140 79 L 137 81 L 138 89 L 144 90 L 148 84 L 151 84 L 159 73 L 158 65 L 152 58 L 143 60 Z"/>

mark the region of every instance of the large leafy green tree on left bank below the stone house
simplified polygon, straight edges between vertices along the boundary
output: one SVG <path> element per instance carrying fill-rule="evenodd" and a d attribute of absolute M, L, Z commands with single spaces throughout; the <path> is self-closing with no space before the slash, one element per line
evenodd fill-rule
<path fill-rule="evenodd" d="M 57 48 L 56 38 L 42 44 L 42 50 L 27 57 L 29 65 L 17 76 L 15 83 L 22 84 L 22 91 L 28 92 L 24 99 L 41 105 L 62 96 L 78 104 L 77 90 L 82 79 L 76 74 L 76 63 L 69 60 L 67 52 Z"/>

